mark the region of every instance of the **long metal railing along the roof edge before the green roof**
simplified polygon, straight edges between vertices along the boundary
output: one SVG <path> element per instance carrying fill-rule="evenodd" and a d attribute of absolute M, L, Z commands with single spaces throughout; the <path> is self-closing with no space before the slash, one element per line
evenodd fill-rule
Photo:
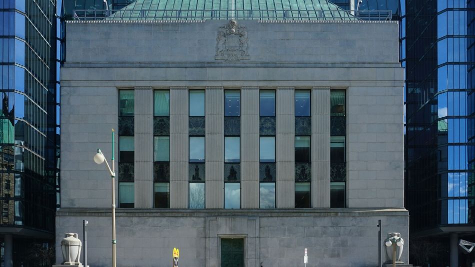
<path fill-rule="evenodd" d="M 391 20 L 391 10 L 157 9 L 73 10 L 74 20 Z"/>

